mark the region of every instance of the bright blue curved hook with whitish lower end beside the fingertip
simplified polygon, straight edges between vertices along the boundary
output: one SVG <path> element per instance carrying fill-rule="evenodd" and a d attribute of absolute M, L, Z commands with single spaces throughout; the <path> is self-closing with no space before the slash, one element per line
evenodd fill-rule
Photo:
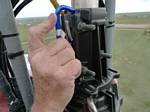
<path fill-rule="evenodd" d="M 60 30 L 61 30 L 61 17 L 60 13 L 61 11 L 68 11 L 71 12 L 72 14 L 75 13 L 75 9 L 66 5 L 60 5 L 59 7 L 56 8 L 55 14 L 57 16 L 57 21 L 56 21 L 56 38 L 61 38 Z"/>

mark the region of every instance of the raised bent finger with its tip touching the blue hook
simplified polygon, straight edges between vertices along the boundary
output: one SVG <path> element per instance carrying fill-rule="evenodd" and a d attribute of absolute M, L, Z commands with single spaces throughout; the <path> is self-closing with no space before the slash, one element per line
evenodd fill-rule
<path fill-rule="evenodd" d="M 29 28 L 28 31 L 28 42 L 29 52 L 34 51 L 44 46 L 42 38 L 54 28 L 56 24 L 56 15 L 51 14 L 49 20 Z"/>

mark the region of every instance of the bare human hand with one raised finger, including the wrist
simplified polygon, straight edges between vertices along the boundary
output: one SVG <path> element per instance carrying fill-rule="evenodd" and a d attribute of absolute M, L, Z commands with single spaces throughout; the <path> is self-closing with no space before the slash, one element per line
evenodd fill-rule
<path fill-rule="evenodd" d="M 48 21 L 29 29 L 29 62 L 35 86 L 32 112 L 63 112 L 81 73 L 81 63 L 65 39 L 48 45 L 42 42 L 55 23 L 56 16 L 51 14 Z"/>

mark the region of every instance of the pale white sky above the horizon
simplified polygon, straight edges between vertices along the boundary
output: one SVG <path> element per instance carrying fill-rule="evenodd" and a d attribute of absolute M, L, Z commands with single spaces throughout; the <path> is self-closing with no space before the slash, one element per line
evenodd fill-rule
<path fill-rule="evenodd" d="M 57 0 L 62 5 L 71 4 L 71 0 Z M 116 0 L 116 13 L 150 12 L 150 0 Z M 19 14 L 18 18 L 48 16 L 55 12 L 49 0 L 33 0 Z"/>

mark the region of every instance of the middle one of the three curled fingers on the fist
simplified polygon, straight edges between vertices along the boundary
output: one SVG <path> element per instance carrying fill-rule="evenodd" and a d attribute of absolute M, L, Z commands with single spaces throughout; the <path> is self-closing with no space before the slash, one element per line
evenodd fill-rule
<path fill-rule="evenodd" d="M 58 65 L 65 65 L 71 60 L 75 59 L 75 52 L 72 48 L 65 48 L 61 52 L 59 52 L 57 55 L 55 55 L 55 60 L 58 63 Z"/>

